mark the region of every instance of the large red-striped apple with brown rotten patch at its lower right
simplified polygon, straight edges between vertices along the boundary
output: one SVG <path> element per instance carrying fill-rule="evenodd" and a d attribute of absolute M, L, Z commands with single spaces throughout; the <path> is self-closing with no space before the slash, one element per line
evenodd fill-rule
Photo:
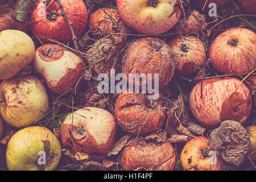
<path fill-rule="evenodd" d="M 251 95 L 245 84 L 240 82 L 232 77 L 199 82 L 189 96 L 190 109 L 197 121 L 207 127 L 219 125 L 225 120 L 237 121 L 243 125 L 250 115 Z M 232 95 L 223 102 L 230 94 Z"/>

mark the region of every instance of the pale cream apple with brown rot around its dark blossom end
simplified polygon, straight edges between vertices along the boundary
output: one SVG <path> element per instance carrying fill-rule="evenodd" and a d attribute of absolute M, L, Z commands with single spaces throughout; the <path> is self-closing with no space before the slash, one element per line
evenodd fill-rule
<path fill-rule="evenodd" d="M 63 148 L 87 154 L 105 154 L 112 147 L 117 124 L 114 116 L 98 107 L 84 107 L 69 114 L 60 128 Z M 73 141 L 73 142 L 72 142 Z"/>

